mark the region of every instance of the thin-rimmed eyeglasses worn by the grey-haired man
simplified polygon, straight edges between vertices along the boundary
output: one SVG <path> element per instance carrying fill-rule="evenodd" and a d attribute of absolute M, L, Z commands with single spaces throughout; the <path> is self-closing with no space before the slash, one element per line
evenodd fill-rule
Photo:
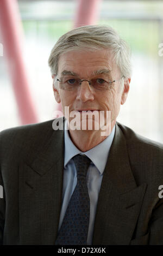
<path fill-rule="evenodd" d="M 124 78 L 124 75 L 122 76 Z M 120 79 L 122 79 L 120 78 Z M 120 80 L 113 80 L 113 81 L 106 81 L 102 78 L 95 78 L 91 80 L 87 79 L 78 79 L 78 78 L 68 78 L 64 77 L 61 78 L 61 80 L 57 79 L 59 81 L 60 89 L 65 91 L 76 91 L 79 88 L 79 85 L 82 85 L 83 81 L 87 81 L 89 83 L 89 86 L 95 91 L 108 91 L 111 88 L 111 84 Z M 110 79 L 107 79 L 110 80 Z"/>

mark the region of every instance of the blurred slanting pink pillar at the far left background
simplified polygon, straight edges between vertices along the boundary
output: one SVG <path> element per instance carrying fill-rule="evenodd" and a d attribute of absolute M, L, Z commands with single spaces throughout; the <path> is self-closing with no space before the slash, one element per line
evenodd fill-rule
<path fill-rule="evenodd" d="M 29 92 L 28 74 L 22 57 L 23 29 L 16 0 L 0 1 L 0 26 L 4 55 L 7 55 L 9 74 L 21 122 L 22 124 L 36 123 L 34 104 Z"/>

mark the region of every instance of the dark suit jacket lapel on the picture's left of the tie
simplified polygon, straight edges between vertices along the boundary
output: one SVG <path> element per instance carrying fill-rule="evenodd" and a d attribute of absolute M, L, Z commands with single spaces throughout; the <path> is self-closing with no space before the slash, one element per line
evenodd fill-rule
<path fill-rule="evenodd" d="M 54 245 L 64 170 L 64 130 L 49 140 L 32 163 L 19 167 L 20 240 L 23 245 Z"/>

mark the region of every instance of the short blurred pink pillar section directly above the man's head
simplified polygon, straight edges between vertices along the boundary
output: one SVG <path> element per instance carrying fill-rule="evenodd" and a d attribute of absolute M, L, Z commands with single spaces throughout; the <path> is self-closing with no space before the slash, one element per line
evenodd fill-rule
<path fill-rule="evenodd" d="M 94 25 L 98 20 L 101 0 L 78 0 L 74 27 Z"/>

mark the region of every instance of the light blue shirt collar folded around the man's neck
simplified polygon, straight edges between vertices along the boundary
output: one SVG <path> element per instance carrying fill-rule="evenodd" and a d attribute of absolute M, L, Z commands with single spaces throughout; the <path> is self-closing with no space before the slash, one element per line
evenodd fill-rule
<path fill-rule="evenodd" d="M 111 131 L 111 134 L 103 140 L 97 146 L 91 148 L 86 152 L 82 152 L 78 150 L 78 148 L 73 144 L 70 136 L 68 134 L 68 124 L 67 120 L 65 122 L 65 159 L 64 159 L 64 167 L 66 164 L 71 160 L 72 157 L 76 156 L 77 154 L 85 154 L 87 157 L 91 159 L 93 164 L 96 165 L 96 168 L 103 174 L 105 169 L 105 165 L 108 159 L 110 147 L 115 135 L 115 126 Z"/>

